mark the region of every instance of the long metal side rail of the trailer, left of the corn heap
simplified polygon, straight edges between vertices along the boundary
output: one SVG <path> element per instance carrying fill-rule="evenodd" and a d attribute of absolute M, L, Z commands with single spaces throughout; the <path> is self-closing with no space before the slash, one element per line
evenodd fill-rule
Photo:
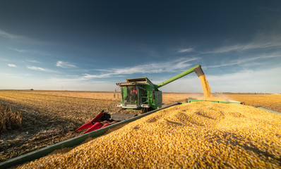
<path fill-rule="evenodd" d="M 138 120 L 140 118 L 143 118 L 146 115 L 150 115 L 152 113 L 155 113 L 156 111 L 161 111 L 162 109 L 169 108 L 171 106 L 176 106 L 176 105 L 179 105 L 179 104 L 180 103 L 171 104 L 169 106 L 165 106 L 163 108 L 159 108 L 159 109 L 156 109 L 154 111 L 150 111 L 148 113 L 143 113 L 141 115 L 137 115 L 136 117 L 129 118 L 127 120 L 123 120 L 119 123 L 115 123 L 115 124 L 109 125 L 107 127 L 103 127 L 103 128 L 98 129 L 98 130 L 94 130 L 92 132 L 88 132 L 86 134 L 82 134 L 80 136 L 73 137 L 71 139 L 67 139 L 67 140 L 64 140 L 64 141 L 56 143 L 56 144 L 52 144 L 50 146 L 46 146 L 42 149 L 38 149 L 38 150 L 35 150 L 35 151 L 32 151 L 32 152 L 29 152 L 27 154 L 23 154 L 22 156 L 18 156 L 16 158 L 11 158 L 7 161 L 4 161 L 4 162 L 0 163 L 0 168 L 9 168 L 13 165 L 18 165 L 18 164 L 21 164 L 21 163 L 25 163 L 25 162 L 28 162 L 28 161 L 35 160 L 35 159 L 40 158 L 42 156 L 46 156 L 47 154 L 51 153 L 52 151 L 54 151 L 56 149 L 63 149 L 65 147 L 76 146 L 76 145 L 84 142 L 85 139 L 88 139 L 90 137 L 92 137 L 92 138 L 98 137 L 98 136 L 104 134 L 105 132 L 107 132 L 107 130 L 109 130 L 111 128 L 114 128 L 118 125 L 130 123 L 134 120 Z"/>

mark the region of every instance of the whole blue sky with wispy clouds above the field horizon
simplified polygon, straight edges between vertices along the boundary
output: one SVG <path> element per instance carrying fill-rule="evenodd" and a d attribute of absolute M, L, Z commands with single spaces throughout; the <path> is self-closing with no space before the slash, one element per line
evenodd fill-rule
<path fill-rule="evenodd" d="M 211 92 L 281 93 L 281 1 L 0 1 L 0 89 L 113 91 L 198 64 Z M 195 73 L 161 89 L 202 91 Z"/>

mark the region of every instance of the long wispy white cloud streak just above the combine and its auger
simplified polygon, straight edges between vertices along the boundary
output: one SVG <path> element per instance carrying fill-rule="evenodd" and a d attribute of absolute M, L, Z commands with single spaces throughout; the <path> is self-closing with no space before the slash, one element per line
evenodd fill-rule
<path fill-rule="evenodd" d="M 135 73 L 165 73 L 175 72 L 185 68 L 189 68 L 192 64 L 191 61 L 199 60 L 200 58 L 179 58 L 175 61 L 162 62 L 162 63 L 149 63 L 143 65 L 136 65 L 126 68 L 111 68 L 107 70 L 100 70 L 99 75 L 85 74 L 85 79 L 112 77 L 116 75 L 131 75 Z"/>

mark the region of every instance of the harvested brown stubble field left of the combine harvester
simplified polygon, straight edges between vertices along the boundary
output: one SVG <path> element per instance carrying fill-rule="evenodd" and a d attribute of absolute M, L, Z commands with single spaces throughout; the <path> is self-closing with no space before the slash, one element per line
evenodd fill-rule
<path fill-rule="evenodd" d="M 6 123 L 5 120 L 5 125 L 2 125 L 13 130 L 0 134 L 0 162 L 80 135 L 75 129 L 102 110 L 119 111 L 114 101 L 49 96 L 44 92 L 0 91 L 0 103 L 20 112 L 13 113 L 20 115 L 16 116 L 18 120 L 22 118 L 21 123 Z M 11 118 L 8 119 L 11 122 Z M 4 123 L 4 118 L 1 120 Z"/>

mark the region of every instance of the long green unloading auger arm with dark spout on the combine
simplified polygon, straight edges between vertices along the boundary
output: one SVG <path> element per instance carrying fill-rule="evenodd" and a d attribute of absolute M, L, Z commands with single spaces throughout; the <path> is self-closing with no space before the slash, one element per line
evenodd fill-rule
<path fill-rule="evenodd" d="M 179 73 L 179 75 L 175 75 L 174 77 L 169 78 L 168 80 L 165 80 L 164 82 L 161 82 L 160 84 L 157 84 L 155 86 L 155 89 L 158 89 L 166 84 L 169 84 L 170 82 L 173 82 L 174 80 L 184 77 L 185 75 L 189 75 L 189 73 L 193 73 L 193 72 L 195 72 L 196 75 L 198 75 L 198 77 L 200 77 L 201 75 L 204 75 L 201 65 L 196 65 L 193 68 L 190 68 L 189 70 L 184 71 L 183 73 Z"/>

